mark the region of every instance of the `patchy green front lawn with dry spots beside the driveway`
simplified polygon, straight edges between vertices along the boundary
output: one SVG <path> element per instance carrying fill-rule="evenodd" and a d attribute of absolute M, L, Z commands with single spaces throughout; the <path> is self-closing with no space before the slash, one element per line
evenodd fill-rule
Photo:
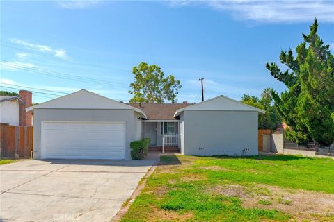
<path fill-rule="evenodd" d="M 161 156 L 122 221 L 334 221 L 334 160 Z"/>

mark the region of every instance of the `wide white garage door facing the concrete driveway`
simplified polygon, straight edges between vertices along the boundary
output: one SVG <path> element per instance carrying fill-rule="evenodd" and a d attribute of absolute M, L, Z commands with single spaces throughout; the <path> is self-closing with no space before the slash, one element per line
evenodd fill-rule
<path fill-rule="evenodd" d="M 110 122 L 43 122 L 42 158 L 125 158 L 125 124 Z"/>

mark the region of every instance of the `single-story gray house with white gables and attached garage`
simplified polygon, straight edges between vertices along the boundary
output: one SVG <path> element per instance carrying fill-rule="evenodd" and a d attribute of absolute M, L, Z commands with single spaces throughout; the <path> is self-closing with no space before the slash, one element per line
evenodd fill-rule
<path fill-rule="evenodd" d="M 35 159 L 129 159 L 130 142 L 177 146 L 184 155 L 257 155 L 263 110 L 225 96 L 188 104 L 125 104 L 85 89 L 26 109 Z"/>

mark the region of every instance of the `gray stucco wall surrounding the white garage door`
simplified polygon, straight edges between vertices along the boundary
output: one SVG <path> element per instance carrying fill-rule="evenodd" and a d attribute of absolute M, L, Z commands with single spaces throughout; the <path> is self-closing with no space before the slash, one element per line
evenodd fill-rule
<path fill-rule="evenodd" d="M 125 158 L 130 157 L 130 142 L 134 141 L 134 110 L 35 109 L 33 118 L 33 158 L 40 159 L 42 121 L 118 121 L 125 122 Z"/>

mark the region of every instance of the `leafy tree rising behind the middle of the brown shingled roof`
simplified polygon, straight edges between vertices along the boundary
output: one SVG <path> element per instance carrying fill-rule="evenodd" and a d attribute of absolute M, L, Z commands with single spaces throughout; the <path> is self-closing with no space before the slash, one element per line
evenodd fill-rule
<path fill-rule="evenodd" d="M 134 67 L 134 83 L 130 84 L 130 94 L 134 96 L 130 103 L 164 103 L 164 101 L 177 101 L 178 89 L 181 88 L 180 80 L 175 80 L 173 75 L 164 76 L 164 72 L 157 65 L 148 65 L 141 62 Z"/>

